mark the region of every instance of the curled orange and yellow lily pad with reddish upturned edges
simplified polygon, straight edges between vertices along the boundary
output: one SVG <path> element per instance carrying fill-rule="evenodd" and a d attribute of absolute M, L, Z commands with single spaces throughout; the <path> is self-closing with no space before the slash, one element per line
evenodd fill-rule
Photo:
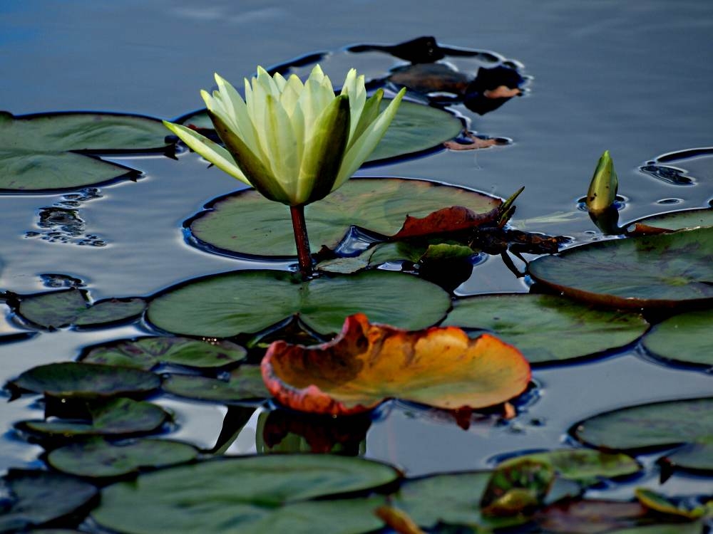
<path fill-rule="evenodd" d="M 262 378 L 277 401 L 302 412 L 356 414 L 391 398 L 478 409 L 522 393 L 530 365 L 492 335 L 471 340 L 455 327 L 409 332 L 372 325 L 357 313 L 322 345 L 273 342 L 262 360 Z"/>

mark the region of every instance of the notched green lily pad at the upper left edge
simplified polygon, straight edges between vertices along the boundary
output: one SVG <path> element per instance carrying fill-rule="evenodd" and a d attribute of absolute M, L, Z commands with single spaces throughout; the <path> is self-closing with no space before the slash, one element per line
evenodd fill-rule
<path fill-rule="evenodd" d="M 0 191 L 78 189 L 135 176 L 87 154 L 164 151 L 165 137 L 160 120 L 140 115 L 0 112 Z"/>

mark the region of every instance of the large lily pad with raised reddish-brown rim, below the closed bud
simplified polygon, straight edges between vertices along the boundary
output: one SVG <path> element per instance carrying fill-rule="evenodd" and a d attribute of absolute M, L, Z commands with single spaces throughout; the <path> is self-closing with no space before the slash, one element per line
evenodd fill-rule
<path fill-rule="evenodd" d="M 530 276 L 565 295 L 620 308 L 713 300 L 713 228 L 598 241 L 530 262 Z"/>

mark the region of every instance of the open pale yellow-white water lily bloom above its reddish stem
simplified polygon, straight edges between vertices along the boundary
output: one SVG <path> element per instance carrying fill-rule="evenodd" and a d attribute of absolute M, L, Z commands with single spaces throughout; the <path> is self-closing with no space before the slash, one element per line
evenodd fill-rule
<path fill-rule="evenodd" d="M 359 169 L 384 137 L 404 95 L 379 114 L 384 95 L 368 100 L 364 76 L 349 70 L 340 95 L 315 66 L 306 82 L 257 68 L 245 100 L 219 75 L 201 91 L 226 148 L 188 127 L 164 121 L 188 147 L 270 200 L 302 206 L 326 197 Z"/>

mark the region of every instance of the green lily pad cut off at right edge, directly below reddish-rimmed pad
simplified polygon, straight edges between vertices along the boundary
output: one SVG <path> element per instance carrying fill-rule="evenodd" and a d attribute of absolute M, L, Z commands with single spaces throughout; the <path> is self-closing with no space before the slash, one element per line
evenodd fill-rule
<path fill-rule="evenodd" d="M 674 315 L 657 324 L 642 344 L 651 355 L 684 365 L 713 366 L 713 310 Z"/>

